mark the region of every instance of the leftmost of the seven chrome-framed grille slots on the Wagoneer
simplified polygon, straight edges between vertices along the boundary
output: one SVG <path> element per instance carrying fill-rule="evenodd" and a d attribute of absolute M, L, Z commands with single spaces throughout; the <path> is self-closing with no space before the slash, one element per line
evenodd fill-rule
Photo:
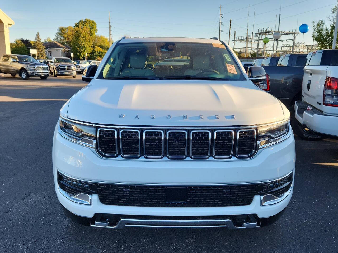
<path fill-rule="evenodd" d="M 98 149 L 105 156 L 117 156 L 117 131 L 115 129 L 98 129 Z"/>

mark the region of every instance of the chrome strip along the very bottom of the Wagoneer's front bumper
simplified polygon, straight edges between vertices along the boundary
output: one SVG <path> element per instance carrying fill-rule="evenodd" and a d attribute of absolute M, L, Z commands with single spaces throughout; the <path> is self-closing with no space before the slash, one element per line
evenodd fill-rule
<path fill-rule="evenodd" d="M 149 227 L 149 228 L 206 228 L 225 227 L 227 229 L 243 229 L 259 227 L 257 220 L 250 217 L 250 221 L 244 222 L 241 226 L 235 226 L 231 219 L 217 220 L 151 220 L 151 219 L 126 219 L 122 218 L 116 225 L 111 226 L 109 220 L 95 220 L 91 227 L 103 227 L 122 229 L 124 227 Z"/>

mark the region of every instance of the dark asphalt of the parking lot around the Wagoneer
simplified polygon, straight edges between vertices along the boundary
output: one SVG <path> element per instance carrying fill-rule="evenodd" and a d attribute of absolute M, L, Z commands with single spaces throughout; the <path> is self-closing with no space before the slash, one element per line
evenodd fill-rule
<path fill-rule="evenodd" d="M 338 141 L 296 137 L 291 202 L 275 224 L 247 230 L 110 230 L 73 223 L 52 174 L 62 105 L 86 83 L 0 75 L 0 252 L 338 252 Z"/>

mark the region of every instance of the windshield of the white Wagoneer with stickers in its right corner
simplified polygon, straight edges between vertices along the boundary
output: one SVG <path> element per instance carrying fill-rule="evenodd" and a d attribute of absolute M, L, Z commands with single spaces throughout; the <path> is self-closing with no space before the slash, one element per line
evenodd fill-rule
<path fill-rule="evenodd" d="M 118 44 L 98 78 L 245 80 L 223 44 L 186 42 Z"/>

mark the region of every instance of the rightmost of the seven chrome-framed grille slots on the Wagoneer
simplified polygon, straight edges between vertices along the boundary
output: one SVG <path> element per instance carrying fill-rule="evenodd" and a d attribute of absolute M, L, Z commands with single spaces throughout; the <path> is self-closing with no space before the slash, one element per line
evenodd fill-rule
<path fill-rule="evenodd" d="M 256 130 L 244 129 L 237 132 L 237 156 L 249 157 L 255 152 Z"/>

